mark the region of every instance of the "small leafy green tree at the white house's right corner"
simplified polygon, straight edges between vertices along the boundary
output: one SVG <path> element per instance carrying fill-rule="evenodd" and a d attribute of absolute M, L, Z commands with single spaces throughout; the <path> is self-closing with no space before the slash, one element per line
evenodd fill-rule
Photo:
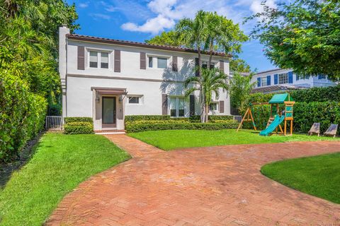
<path fill-rule="evenodd" d="M 248 103 L 251 90 L 254 87 L 254 83 L 251 83 L 250 76 L 242 76 L 240 73 L 236 72 L 230 78 L 229 83 L 229 95 L 232 107 L 239 110 L 239 112 L 244 111 L 246 104 Z"/>

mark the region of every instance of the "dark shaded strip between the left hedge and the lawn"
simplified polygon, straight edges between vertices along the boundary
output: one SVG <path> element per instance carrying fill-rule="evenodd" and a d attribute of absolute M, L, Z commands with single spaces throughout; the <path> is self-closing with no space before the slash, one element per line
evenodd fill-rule
<path fill-rule="evenodd" d="M 33 157 L 35 150 L 39 146 L 40 138 L 45 132 L 40 132 L 33 140 L 28 141 L 26 147 L 23 148 L 21 153 L 18 153 L 18 157 L 15 160 L 0 164 L 0 189 L 4 189 L 8 180 L 11 179 L 13 172 L 20 170 Z"/>

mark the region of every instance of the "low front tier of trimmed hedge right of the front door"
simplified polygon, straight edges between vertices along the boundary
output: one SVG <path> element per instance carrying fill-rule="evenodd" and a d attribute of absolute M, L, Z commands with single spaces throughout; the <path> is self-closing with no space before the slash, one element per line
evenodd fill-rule
<path fill-rule="evenodd" d="M 237 122 L 232 123 L 168 123 L 168 124 L 131 124 L 126 131 L 137 133 L 142 131 L 174 130 L 174 129 L 199 129 L 199 130 L 220 130 L 236 129 Z"/>

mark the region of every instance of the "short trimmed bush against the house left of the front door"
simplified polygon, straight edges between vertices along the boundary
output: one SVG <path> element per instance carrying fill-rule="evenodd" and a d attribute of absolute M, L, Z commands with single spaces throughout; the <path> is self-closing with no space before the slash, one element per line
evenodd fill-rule
<path fill-rule="evenodd" d="M 66 117 L 64 121 L 65 134 L 94 133 L 94 123 L 90 117 Z"/>

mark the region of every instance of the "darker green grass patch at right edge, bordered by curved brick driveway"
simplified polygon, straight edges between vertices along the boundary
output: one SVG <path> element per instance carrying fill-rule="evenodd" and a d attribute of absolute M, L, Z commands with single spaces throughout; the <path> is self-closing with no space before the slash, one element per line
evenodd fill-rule
<path fill-rule="evenodd" d="M 273 162 L 261 172 L 293 189 L 340 204 L 340 153 Z"/>

